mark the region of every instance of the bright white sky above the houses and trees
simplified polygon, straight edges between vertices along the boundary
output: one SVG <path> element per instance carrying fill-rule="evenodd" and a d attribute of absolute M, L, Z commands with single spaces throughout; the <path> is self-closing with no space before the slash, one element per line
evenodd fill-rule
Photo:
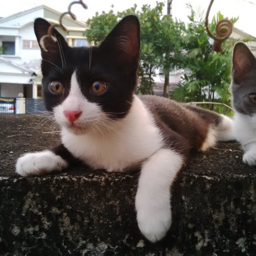
<path fill-rule="evenodd" d="M 0 17 L 9 16 L 42 4 L 58 10 L 59 12 L 65 12 L 71 1 L 72 0 L 0 0 Z M 135 3 L 138 5 L 138 9 L 140 9 L 143 4 L 150 4 L 152 7 L 156 6 L 156 0 L 83 0 L 83 2 L 87 4 L 88 10 L 84 10 L 82 6 L 78 4 L 72 6 L 72 12 L 76 15 L 77 19 L 83 21 L 92 18 L 96 12 L 108 12 L 112 9 L 112 5 L 114 5 L 114 12 L 126 10 Z M 158 0 L 158 2 L 165 2 L 166 4 L 167 0 Z M 173 17 L 188 22 L 187 16 L 190 12 L 186 8 L 186 3 L 190 3 L 194 10 L 200 8 L 206 12 L 210 0 L 173 0 Z M 164 10 L 167 11 L 167 5 Z M 256 0 L 214 0 L 210 11 L 210 18 L 219 10 L 224 16 L 229 18 L 239 16 L 235 27 L 256 37 Z"/>

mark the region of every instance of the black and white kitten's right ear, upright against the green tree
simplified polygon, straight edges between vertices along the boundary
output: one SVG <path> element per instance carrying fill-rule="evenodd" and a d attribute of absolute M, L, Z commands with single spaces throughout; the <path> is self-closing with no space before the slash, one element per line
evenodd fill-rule
<path fill-rule="evenodd" d="M 140 23 L 136 16 L 124 17 L 100 44 L 102 53 L 118 65 L 122 72 L 133 72 L 140 55 Z"/>

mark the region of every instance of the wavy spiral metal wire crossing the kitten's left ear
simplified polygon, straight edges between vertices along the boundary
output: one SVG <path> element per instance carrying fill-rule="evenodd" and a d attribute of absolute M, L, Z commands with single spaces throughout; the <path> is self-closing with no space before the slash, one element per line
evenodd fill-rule
<path fill-rule="evenodd" d="M 46 49 L 46 47 L 44 46 L 44 39 L 46 37 L 49 37 L 51 38 L 54 42 L 57 42 L 57 39 L 52 35 L 52 30 L 53 28 L 55 27 L 60 27 L 62 28 L 64 31 L 66 31 L 66 28 L 63 26 L 62 24 L 62 18 L 64 15 L 70 15 L 70 17 L 73 19 L 73 20 L 76 20 L 76 15 L 74 13 L 71 12 L 71 6 L 73 4 L 81 4 L 84 9 L 88 9 L 87 5 L 82 2 L 82 0 L 78 0 L 78 1 L 74 1 L 74 2 L 71 2 L 68 6 L 68 11 L 67 12 L 63 12 L 60 16 L 60 19 L 59 19 L 59 23 L 60 24 L 52 24 L 49 28 L 48 28 L 48 34 L 45 35 L 45 36 L 42 36 L 42 38 L 40 39 L 40 45 L 42 46 L 42 48 L 44 49 L 44 51 L 48 52 L 48 50 Z"/>

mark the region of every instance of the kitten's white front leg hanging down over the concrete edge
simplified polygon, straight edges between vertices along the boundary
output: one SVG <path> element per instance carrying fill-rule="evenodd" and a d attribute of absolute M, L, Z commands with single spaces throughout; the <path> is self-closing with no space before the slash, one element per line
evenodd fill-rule
<path fill-rule="evenodd" d="M 151 242 L 162 239 L 171 226 L 170 186 L 183 163 L 179 153 L 161 149 L 142 166 L 135 205 L 140 231 Z"/>

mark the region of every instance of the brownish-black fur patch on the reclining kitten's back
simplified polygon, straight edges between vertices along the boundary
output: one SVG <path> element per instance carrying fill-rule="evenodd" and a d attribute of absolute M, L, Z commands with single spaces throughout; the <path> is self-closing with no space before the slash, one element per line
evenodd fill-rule
<path fill-rule="evenodd" d="M 184 156 L 191 150 L 201 150 L 209 128 L 219 124 L 215 112 L 181 104 L 159 96 L 140 96 L 164 132 L 166 146 L 172 146 Z"/>

